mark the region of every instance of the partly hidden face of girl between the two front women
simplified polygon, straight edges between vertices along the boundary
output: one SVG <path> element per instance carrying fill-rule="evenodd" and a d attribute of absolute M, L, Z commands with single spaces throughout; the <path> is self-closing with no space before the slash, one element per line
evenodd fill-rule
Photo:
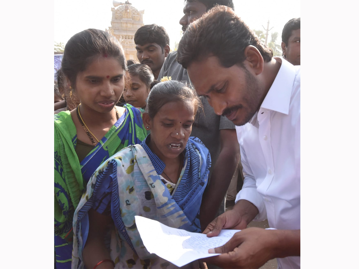
<path fill-rule="evenodd" d="M 131 75 L 131 85 L 129 89 L 123 91 L 123 98 L 126 103 L 134 107 L 145 108 L 146 98 L 150 92 L 149 87 L 140 80 L 139 76 Z"/>

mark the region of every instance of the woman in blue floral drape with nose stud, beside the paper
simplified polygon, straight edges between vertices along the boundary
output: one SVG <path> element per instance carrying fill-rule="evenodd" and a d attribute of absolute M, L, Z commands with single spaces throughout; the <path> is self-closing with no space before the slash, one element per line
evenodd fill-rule
<path fill-rule="evenodd" d="M 146 250 L 135 216 L 201 231 L 210 154 L 198 138 L 189 138 L 198 105 L 194 90 L 181 82 L 153 87 L 143 114 L 151 134 L 104 162 L 75 210 L 72 268 L 176 267 Z"/>

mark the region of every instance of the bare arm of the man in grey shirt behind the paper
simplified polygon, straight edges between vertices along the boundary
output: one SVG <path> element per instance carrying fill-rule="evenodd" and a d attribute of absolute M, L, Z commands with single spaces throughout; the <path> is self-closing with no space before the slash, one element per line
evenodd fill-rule
<path fill-rule="evenodd" d="M 219 156 L 202 197 L 200 209 L 202 231 L 215 218 L 239 162 L 240 154 L 236 129 L 220 129 L 219 134 Z"/>

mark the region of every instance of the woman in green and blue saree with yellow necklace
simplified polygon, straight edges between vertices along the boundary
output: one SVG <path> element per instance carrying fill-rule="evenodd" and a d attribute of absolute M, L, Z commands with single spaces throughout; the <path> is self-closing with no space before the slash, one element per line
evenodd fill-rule
<path fill-rule="evenodd" d="M 54 117 L 55 268 L 70 268 L 75 208 L 93 172 L 123 147 L 144 140 L 141 112 L 116 107 L 125 86 L 121 44 L 88 29 L 67 42 L 61 70 L 80 105 Z M 98 139 L 99 138 L 99 139 Z"/>

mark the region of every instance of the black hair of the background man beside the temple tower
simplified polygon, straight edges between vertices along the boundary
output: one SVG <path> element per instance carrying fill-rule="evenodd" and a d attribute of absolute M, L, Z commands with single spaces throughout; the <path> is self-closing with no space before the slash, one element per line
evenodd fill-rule
<path fill-rule="evenodd" d="M 143 25 L 135 33 L 134 37 L 135 44 L 143 46 L 147 43 L 157 43 L 162 48 L 169 45 L 169 37 L 166 30 L 162 26 L 157 24 Z"/>

